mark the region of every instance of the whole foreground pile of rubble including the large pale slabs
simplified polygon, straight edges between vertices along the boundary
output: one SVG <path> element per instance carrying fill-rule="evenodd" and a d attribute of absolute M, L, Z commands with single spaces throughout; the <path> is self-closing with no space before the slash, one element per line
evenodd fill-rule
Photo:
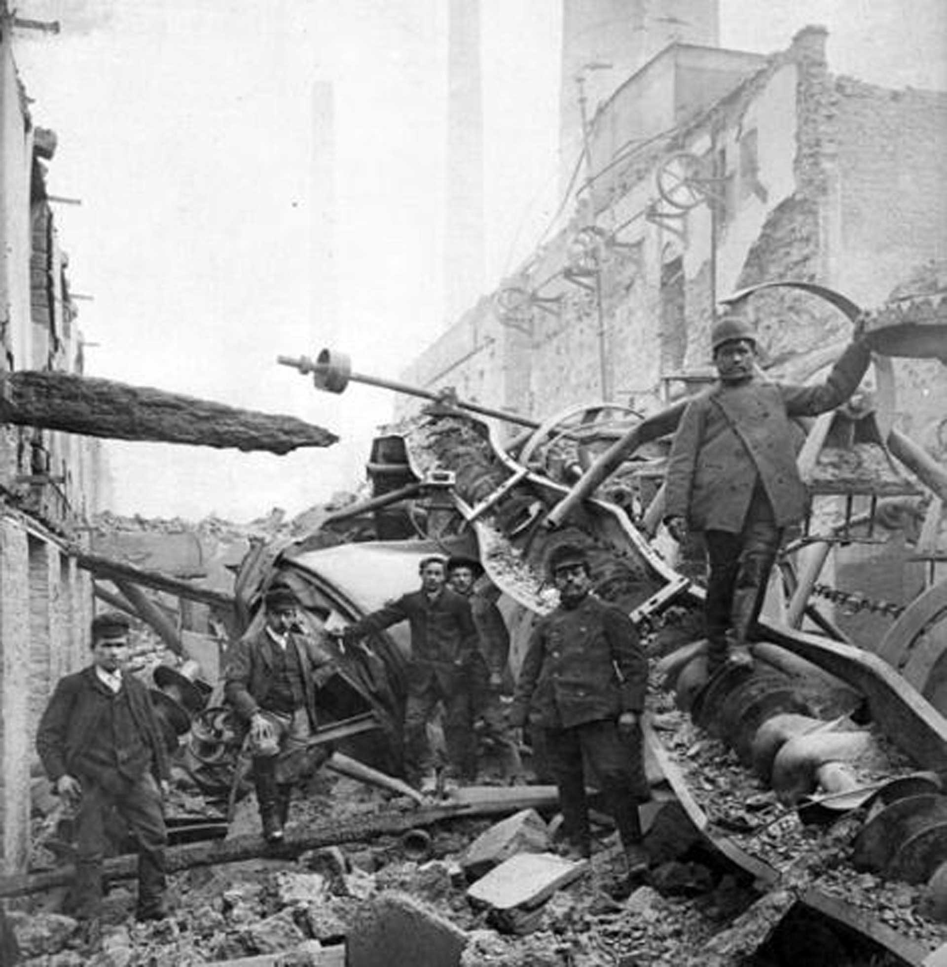
<path fill-rule="evenodd" d="M 384 807 L 382 794 L 344 778 L 316 777 L 310 792 L 293 804 L 290 829 Z M 652 885 L 623 895 L 622 853 L 603 824 L 591 863 L 557 856 L 554 824 L 523 810 L 493 825 L 457 819 L 297 858 L 271 853 L 192 868 L 171 877 L 172 915 L 163 923 L 134 923 L 132 888 L 114 884 L 97 937 L 50 912 L 61 892 L 14 901 L 8 916 L 30 967 L 247 957 L 257 958 L 254 967 L 679 967 L 755 899 L 714 863 L 682 859 L 658 865 Z M 251 798 L 231 834 L 255 826 Z"/>

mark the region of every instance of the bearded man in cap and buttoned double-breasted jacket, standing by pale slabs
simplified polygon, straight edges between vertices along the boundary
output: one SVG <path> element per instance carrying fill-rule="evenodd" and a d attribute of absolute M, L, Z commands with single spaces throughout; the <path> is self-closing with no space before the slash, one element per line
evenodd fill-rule
<path fill-rule="evenodd" d="M 592 851 L 582 768 L 583 756 L 588 759 L 634 879 L 648 865 L 636 802 L 648 662 L 629 617 L 591 594 L 591 568 L 581 547 L 555 547 L 548 571 L 559 605 L 529 639 L 510 724 L 521 728 L 528 718 L 544 730 L 566 848 L 577 857 Z"/>

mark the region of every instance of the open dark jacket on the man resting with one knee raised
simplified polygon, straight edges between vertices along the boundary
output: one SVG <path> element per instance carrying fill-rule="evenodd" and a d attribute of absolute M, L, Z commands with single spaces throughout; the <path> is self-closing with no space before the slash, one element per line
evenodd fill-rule
<path fill-rule="evenodd" d="M 331 650 L 307 634 L 290 631 L 287 649 L 295 649 L 303 675 L 306 711 L 312 728 L 316 721 L 315 693 L 338 671 Z M 223 694 L 241 718 L 249 720 L 267 704 L 273 687 L 273 669 L 280 646 L 266 628 L 241 638 L 227 654 Z"/>

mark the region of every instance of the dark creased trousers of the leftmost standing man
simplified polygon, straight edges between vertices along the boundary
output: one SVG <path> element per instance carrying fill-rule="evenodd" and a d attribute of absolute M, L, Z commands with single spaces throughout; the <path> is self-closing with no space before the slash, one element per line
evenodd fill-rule
<path fill-rule="evenodd" d="M 138 912 L 161 906 L 166 879 L 162 794 L 151 773 L 134 782 L 116 782 L 106 791 L 97 782 L 83 780 L 76 824 L 74 909 L 80 918 L 96 917 L 102 905 L 102 862 L 105 855 L 105 816 L 114 807 L 128 823 L 138 844 Z"/>

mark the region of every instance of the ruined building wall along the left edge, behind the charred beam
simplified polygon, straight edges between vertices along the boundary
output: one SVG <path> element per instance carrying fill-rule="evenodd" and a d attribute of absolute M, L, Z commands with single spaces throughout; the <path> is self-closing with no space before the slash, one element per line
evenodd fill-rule
<path fill-rule="evenodd" d="M 82 338 L 37 128 L 16 73 L 13 16 L 0 20 L 0 408 L 15 370 L 81 372 Z M 25 867 L 33 739 L 56 680 L 88 659 L 92 580 L 76 565 L 102 480 L 98 441 L 0 427 L 0 866 Z"/>

